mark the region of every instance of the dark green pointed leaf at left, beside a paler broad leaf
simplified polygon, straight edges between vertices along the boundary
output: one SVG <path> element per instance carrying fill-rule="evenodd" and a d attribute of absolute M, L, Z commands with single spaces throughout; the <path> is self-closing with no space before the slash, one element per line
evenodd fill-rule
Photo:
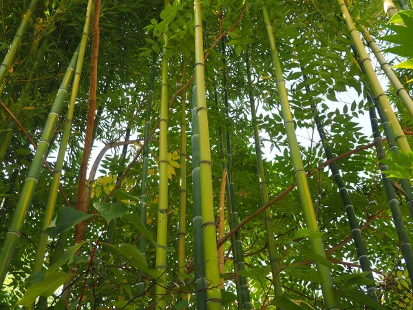
<path fill-rule="evenodd" d="M 47 227 L 46 231 L 50 237 L 56 237 L 57 235 L 63 233 L 67 229 L 74 227 L 74 225 L 92 218 L 93 214 L 83 213 L 77 211 L 71 207 L 62 206 L 59 211 L 56 212 L 56 218 L 52 220 L 52 223 Z"/>

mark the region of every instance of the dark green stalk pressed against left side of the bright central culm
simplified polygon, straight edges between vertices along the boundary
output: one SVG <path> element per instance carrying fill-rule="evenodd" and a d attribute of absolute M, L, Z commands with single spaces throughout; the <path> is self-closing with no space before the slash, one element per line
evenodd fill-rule
<path fill-rule="evenodd" d="M 195 82 L 194 82 L 195 83 Z M 193 252 L 194 252 L 194 278 L 196 309 L 207 309 L 207 281 L 205 280 L 204 238 L 202 233 L 201 211 L 201 180 L 200 180 L 200 142 L 198 134 L 198 110 L 196 104 L 196 85 L 192 89 L 192 226 L 193 226 Z"/>

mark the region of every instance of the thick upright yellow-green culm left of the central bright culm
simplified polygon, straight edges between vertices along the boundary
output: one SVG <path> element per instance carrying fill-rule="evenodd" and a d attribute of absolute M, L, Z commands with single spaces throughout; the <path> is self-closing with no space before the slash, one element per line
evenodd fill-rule
<path fill-rule="evenodd" d="M 165 0 L 167 6 L 168 0 Z M 165 309 L 167 302 L 162 299 L 167 294 L 167 232 L 168 232 L 168 35 L 164 32 L 164 46 L 162 48 L 162 78 L 160 88 L 160 121 L 159 121 L 159 204 L 158 230 L 156 242 L 164 248 L 156 248 L 156 270 L 162 273 L 156 285 L 156 309 Z"/>

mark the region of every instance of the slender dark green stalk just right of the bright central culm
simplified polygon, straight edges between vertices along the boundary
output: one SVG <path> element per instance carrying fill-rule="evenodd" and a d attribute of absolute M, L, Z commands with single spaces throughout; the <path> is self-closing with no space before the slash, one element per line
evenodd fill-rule
<path fill-rule="evenodd" d="M 224 91 L 224 105 L 225 105 L 225 117 L 226 117 L 226 125 L 227 128 L 231 126 L 231 122 L 229 120 L 229 103 L 228 103 L 228 92 L 226 89 L 226 46 L 225 46 L 225 38 L 222 38 L 222 62 L 224 63 L 224 67 L 222 68 L 222 87 Z M 225 132 L 226 138 L 226 180 L 229 187 L 229 205 L 231 207 L 231 229 L 237 226 L 240 221 L 238 220 L 238 210 L 237 210 L 237 202 L 235 200 L 235 185 L 233 180 L 233 160 L 232 160 L 232 150 L 231 150 L 231 134 L 227 129 Z M 240 238 L 240 231 L 238 230 L 235 233 L 235 243 L 233 244 L 234 250 L 234 263 L 237 265 L 237 271 L 244 270 L 244 254 L 242 250 L 242 240 Z M 248 285 L 246 284 L 246 278 L 244 276 L 238 275 L 240 287 L 240 296 L 242 300 L 239 300 L 238 307 L 242 305 L 244 309 L 251 309 L 251 302 L 250 296 L 248 291 Z M 241 302 L 241 303 L 240 303 Z"/>

